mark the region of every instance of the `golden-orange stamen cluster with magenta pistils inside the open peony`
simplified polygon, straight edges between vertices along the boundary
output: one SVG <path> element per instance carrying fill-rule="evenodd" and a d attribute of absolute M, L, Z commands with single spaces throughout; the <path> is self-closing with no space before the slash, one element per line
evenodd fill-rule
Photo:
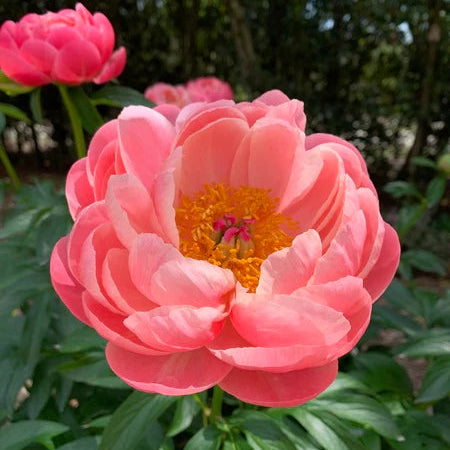
<path fill-rule="evenodd" d="M 266 189 L 215 183 L 183 196 L 176 209 L 181 253 L 230 269 L 255 292 L 262 262 L 298 234 L 298 225 L 276 212 L 277 203 Z"/>

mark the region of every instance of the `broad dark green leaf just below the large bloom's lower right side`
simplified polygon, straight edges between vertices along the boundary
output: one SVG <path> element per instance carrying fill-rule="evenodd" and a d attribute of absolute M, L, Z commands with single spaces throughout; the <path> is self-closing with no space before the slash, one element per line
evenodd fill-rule
<path fill-rule="evenodd" d="M 405 371 L 388 355 L 377 352 L 360 353 L 354 358 L 357 371 L 351 374 L 376 392 L 396 392 L 410 395 L 411 382 Z"/>

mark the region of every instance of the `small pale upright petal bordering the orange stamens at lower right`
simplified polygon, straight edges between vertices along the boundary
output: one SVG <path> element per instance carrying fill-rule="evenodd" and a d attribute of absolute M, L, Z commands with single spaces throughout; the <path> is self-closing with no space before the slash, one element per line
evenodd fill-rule
<path fill-rule="evenodd" d="M 290 294 L 311 278 L 322 244 L 315 230 L 298 235 L 290 247 L 272 253 L 261 265 L 257 294 Z"/>

